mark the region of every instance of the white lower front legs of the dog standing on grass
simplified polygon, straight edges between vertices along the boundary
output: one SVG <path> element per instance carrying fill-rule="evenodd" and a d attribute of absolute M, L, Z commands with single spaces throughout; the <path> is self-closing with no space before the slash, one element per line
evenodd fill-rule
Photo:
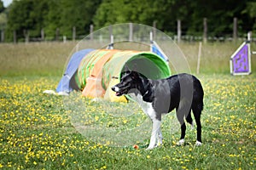
<path fill-rule="evenodd" d="M 150 142 L 147 150 L 154 149 L 154 146 L 156 144 L 156 139 L 158 137 L 158 134 L 160 133 L 161 122 L 155 118 L 152 120 L 152 122 L 153 122 L 152 133 L 151 133 L 151 138 L 150 138 Z"/>

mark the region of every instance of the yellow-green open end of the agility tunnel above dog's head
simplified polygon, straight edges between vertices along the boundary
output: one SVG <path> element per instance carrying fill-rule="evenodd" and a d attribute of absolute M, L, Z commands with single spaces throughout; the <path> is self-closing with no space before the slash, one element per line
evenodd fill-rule
<path fill-rule="evenodd" d="M 160 79 L 171 75 L 166 61 L 156 54 L 150 52 L 118 53 L 104 65 L 102 87 L 108 88 L 111 77 L 120 79 L 122 71 L 127 69 L 140 72 L 150 79 Z"/>

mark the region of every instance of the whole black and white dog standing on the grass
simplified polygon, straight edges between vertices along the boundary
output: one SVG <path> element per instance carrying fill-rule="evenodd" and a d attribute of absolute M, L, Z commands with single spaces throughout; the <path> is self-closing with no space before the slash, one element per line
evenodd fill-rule
<path fill-rule="evenodd" d="M 191 126 L 195 116 L 197 126 L 196 145 L 201 145 L 201 111 L 203 110 L 203 88 L 201 82 L 189 74 L 178 74 L 166 79 L 150 80 L 137 71 L 124 71 L 120 82 L 112 87 L 117 96 L 129 94 L 142 107 L 153 122 L 148 150 L 162 144 L 160 130 L 161 115 L 176 109 L 181 124 L 181 138 L 177 144 L 184 144 L 186 119 Z"/>

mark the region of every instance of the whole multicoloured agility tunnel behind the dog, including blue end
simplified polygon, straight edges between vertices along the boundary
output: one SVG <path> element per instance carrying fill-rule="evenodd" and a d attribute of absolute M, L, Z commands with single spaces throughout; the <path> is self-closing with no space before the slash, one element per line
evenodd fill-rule
<path fill-rule="evenodd" d="M 166 60 L 149 51 L 84 49 L 73 54 L 56 91 L 70 93 L 74 89 L 89 98 L 126 101 L 130 99 L 128 95 L 116 97 L 111 87 L 120 81 L 122 72 L 127 69 L 150 79 L 171 76 Z"/>

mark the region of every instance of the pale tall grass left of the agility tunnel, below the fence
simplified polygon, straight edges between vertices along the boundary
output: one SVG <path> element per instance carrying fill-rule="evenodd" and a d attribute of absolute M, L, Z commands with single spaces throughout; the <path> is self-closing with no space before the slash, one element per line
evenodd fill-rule
<path fill-rule="evenodd" d="M 75 43 L 0 44 L 0 76 L 58 76 Z"/>

